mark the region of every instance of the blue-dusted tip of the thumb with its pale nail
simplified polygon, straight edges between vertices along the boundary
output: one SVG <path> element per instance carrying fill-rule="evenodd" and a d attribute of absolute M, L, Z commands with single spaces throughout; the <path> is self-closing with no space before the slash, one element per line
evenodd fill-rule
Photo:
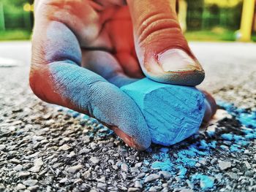
<path fill-rule="evenodd" d="M 173 85 L 195 86 L 205 78 L 197 59 L 181 49 L 166 50 L 158 55 L 146 54 L 142 69 L 151 80 Z"/>

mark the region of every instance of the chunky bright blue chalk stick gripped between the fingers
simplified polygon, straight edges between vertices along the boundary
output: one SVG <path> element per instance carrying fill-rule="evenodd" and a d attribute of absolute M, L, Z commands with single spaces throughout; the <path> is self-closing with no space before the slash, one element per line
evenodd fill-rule
<path fill-rule="evenodd" d="M 197 132 L 205 112 L 203 93 L 196 88 L 168 85 L 148 78 L 124 85 L 148 125 L 152 142 L 173 145 Z"/>

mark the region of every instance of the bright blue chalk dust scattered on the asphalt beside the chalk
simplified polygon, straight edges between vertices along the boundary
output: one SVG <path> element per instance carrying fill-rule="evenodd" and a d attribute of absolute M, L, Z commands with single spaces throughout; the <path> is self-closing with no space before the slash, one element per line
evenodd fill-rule
<path fill-rule="evenodd" d="M 255 120 L 254 115 L 245 110 L 239 110 L 234 107 L 232 104 L 225 104 L 227 106 L 227 110 L 230 110 L 229 113 L 234 115 L 238 120 L 240 120 L 242 126 L 244 125 L 244 120 Z M 247 114 L 247 115 L 241 115 Z M 249 117 L 249 118 L 248 118 Z M 186 149 L 178 150 L 177 158 L 170 158 L 169 156 L 169 148 L 162 147 L 159 149 L 159 153 L 153 155 L 153 160 L 144 160 L 143 163 L 145 166 L 151 165 L 152 169 L 160 169 L 163 171 L 167 171 L 172 173 L 174 176 L 178 175 L 181 179 L 186 178 L 187 172 L 189 172 L 190 168 L 194 168 L 200 158 L 203 158 L 206 155 L 211 154 L 212 149 L 216 149 L 217 147 L 222 148 L 223 150 L 230 153 L 243 153 L 244 146 L 249 145 L 249 142 L 255 138 L 256 135 L 256 127 L 252 126 L 253 123 L 247 123 L 248 127 L 242 127 L 241 130 L 244 132 L 244 135 L 238 135 L 233 133 L 222 134 L 221 139 L 226 141 L 233 141 L 232 145 L 226 146 L 221 145 L 217 146 L 217 141 L 206 142 L 205 139 L 198 140 L 197 142 L 189 145 Z M 215 133 L 215 132 L 214 132 Z M 214 134 L 213 133 L 213 134 Z M 196 138 L 196 137 L 195 137 Z M 186 143 L 186 141 L 184 141 Z M 148 148 L 148 152 L 152 152 L 151 148 Z M 178 164 L 178 166 L 177 166 Z M 147 170 L 146 167 L 143 166 L 143 170 Z M 194 176 L 195 175 L 195 176 Z M 208 177 L 204 174 L 194 174 L 192 176 L 192 180 L 195 182 L 200 180 L 200 186 L 202 190 L 207 190 L 209 188 L 214 187 L 214 180 L 211 177 Z"/>

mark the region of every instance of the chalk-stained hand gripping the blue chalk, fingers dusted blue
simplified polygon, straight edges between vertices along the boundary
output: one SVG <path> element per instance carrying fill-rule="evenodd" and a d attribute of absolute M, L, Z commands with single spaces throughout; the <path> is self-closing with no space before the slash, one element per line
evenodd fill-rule
<path fill-rule="evenodd" d="M 181 34 L 175 2 L 36 0 L 32 90 L 146 149 L 151 136 L 143 115 L 118 87 L 144 75 L 178 85 L 198 85 L 204 78 Z"/>

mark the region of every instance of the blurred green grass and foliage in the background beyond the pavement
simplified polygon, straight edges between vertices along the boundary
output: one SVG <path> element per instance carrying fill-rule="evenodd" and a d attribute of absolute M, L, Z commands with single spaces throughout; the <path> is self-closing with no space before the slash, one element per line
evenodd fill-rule
<path fill-rule="evenodd" d="M 180 20 L 187 39 L 236 40 L 236 31 L 241 25 L 243 0 L 179 1 Z M 0 0 L 0 40 L 30 39 L 33 11 L 33 0 Z M 256 41 L 255 32 L 252 32 L 252 40 Z"/>

